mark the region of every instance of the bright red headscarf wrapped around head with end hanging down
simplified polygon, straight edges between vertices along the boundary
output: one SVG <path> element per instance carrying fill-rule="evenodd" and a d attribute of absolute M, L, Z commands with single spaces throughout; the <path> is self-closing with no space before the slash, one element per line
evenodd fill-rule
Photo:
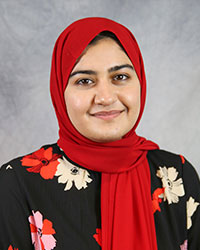
<path fill-rule="evenodd" d="M 85 138 L 73 127 L 65 107 L 64 90 L 76 59 L 88 43 L 104 30 L 118 37 L 135 67 L 141 84 L 141 109 L 135 126 L 124 138 L 97 143 Z M 146 80 L 142 56 L 134 36 L 126 27 L 106 18 L 84 18 L 72 23 L 56 41 L 50 88 L 59 123 L 58 145 L 74 162 L 102 173 L 102 249 L 156 250 L 146 154 L 158 146 L 135 133 L 144 110 Z"/>

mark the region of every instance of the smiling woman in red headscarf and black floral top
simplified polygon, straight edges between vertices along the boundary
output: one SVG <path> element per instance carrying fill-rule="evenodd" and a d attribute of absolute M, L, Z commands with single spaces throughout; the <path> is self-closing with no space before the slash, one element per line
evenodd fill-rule
<path fill-rule="evenodd" d="M 74 22 L 50 83 L 59 140 L 2 166 L 0 249 L 200 249 L 195 170 L 135 133 L 146 80 L 132 33 Z"/>

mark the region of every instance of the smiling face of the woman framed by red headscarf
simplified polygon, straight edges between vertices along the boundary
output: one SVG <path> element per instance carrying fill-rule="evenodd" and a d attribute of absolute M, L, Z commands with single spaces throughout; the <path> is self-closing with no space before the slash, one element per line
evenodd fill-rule
<path fill-rule="evenodd" d="M 140 82 L 133 64 L 110 38 L 87 47 L 71 72 L 64 96 L 74 127 L 96 142 L 121 139 L 140 111 Z"/>

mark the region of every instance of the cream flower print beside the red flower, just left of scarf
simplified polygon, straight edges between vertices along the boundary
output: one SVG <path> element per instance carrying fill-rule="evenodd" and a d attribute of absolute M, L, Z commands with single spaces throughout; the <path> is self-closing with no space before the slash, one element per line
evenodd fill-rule
<path fill-rule="evenodd" d="M 92 182 L 87 170 L 73 165 L 65 157 L 58 159 L 58 161 L 60 163 L 57 166 L 55 176 L 59 176 L 59 183 L 66 183 L 64 191 L 71 189 L 73 182 L 78 190 L 87 188 L 87 183 Z"/>

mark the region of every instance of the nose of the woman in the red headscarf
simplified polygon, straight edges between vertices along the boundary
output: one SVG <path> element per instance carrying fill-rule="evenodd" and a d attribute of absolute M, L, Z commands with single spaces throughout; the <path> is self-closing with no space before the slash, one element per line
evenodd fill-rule
<path fill-rule="evenodd" d="M 94 97 L 94 103 L 107 106 L 113 104 L 116 100 L 117 94 L 115 93 L 112 83 L 109 83 L 109 81 L 99 82 Z"/>

